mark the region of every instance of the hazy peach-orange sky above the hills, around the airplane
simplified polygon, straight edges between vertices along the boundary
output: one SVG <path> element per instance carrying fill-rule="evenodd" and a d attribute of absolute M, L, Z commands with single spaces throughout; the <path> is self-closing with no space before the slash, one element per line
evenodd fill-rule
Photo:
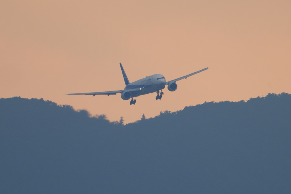
<path fill-rule="evenodd" d="M 110 121 L 205 101 L 291 93 L 291 1 L 1 1 L 0 98 L 43 98 Z M 160 73 L 166 81 L 208 67 L 156 94 L 120 90 Z"/>

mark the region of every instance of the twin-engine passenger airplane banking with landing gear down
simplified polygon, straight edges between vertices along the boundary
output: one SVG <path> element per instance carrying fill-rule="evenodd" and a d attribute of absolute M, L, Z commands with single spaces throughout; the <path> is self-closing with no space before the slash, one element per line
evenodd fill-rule
<path fill-rule="evenodd" d="M 168 90 L 169 91 L 175 91 L 177 89 L 177 84 L 176 82 L 182 79 L 187 79 L 187 77 L 194 75 L 196 73 L 200 73 L 204 70 L 207 70 L 208 68 L 204 68 L 201 69 L 199 71 L 196 71 L 194 73 L 190 73 L 188 75 L 185 75 L 183 77 L 179 77 L 175 80 L 171 80 L 166 82 L 166 79 L 163 75 L 161 74 L 155 74 L 155 75 L 151 75 L 151 76 L 146 76 L 145 78 L 142 78 L 140 80 L 137 80 L 135 82 L 130 83 L 128 81 L 128 78 L 125 74 L 125 71 L 123 69 L 123 66 L 120 64 L 120 68 L 122 71 L 122 75 L 123 75 L 123 79 L 125 82 L 125 88 L 123 90 L 116 90 L 116 91 L 104 91 L 104 92 L 89 92 L 89 93 L 74 93 L 74 94 L 67 94 L 67 95 L 115 95 L 117 93 L 121 93 L 121 98 L 123 100 L 129 100 L 131 98 L 130 101 L 130 105 L 135 104 L 136 100 L 133 98 L 137 97 L 137 96 L 141 96 L 141 95 L 145 95 L 145 94 L 152 94 L 154 92 L 157 93 L 156 96 L 156 100 L 162 98 L 162 95 L 164 94 L 164 92 L 162 92 L 162 89 L 165 88 L 166 85 L 168 85 Z M 161 92 L 160 92 L 161 90 Z"/>

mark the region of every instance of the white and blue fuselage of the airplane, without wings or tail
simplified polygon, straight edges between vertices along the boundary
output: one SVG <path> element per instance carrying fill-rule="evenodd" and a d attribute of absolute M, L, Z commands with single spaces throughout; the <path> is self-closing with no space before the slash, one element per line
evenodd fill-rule
<path fill-rule="evenodd" d="M 131 96 L 137 97 L 164 89 L 165 85 L 165 77 L 161 74 L 155 74 L 129 83 L 127 86 L 125 86 L 124 90 L 127 91 L 131 89 L 139 89 L 138 91 L 131 91 Z"/>

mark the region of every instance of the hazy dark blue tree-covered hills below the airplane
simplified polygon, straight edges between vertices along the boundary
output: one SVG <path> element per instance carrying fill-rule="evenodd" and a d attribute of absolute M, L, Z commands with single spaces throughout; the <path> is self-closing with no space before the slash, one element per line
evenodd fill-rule
<path fill-rule="evenodd" d="M 118 126 L 0 99 L 4 193 L 290 193 L 291 95 L 204 103 Z"/>

